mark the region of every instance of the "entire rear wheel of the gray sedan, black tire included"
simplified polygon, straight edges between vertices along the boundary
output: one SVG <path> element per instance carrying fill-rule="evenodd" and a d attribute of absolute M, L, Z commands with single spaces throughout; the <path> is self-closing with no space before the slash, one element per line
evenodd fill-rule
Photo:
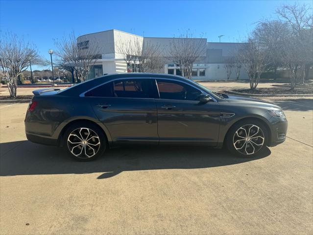
<path fill-rule="evenodd" d="M 77 161 L 86 162 L 96 159 L 103 154 L 106 146 L 106 136 L 101 128 L 89 122 L 72 124 L 63 136 L 64 150 Z"/>

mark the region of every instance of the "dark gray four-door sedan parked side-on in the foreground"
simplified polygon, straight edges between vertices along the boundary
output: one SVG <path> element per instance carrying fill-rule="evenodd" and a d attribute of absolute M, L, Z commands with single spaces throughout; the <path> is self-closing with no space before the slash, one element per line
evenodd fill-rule
<path fill-rule="evenodd" d="M 225 145 L 232 154 L 254 157 L 285 141 L 288 126 L 277 105 L 218 94 L 169 74 L 109 74 L 33 94 L 27 139 L 62 146 L 81 161 L 136 143 Z"/>

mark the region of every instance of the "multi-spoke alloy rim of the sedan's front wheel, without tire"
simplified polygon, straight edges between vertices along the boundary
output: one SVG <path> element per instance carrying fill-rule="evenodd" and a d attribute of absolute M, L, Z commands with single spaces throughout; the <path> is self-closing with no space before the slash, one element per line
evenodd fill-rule
<path fill-rule="evenodd" d="M 260 127 L 253 124 L 246 124 L 235 132 L 233 144 L 239 153 L 250 155 L 262 148 L 264 138 L 264 133 Z"/>

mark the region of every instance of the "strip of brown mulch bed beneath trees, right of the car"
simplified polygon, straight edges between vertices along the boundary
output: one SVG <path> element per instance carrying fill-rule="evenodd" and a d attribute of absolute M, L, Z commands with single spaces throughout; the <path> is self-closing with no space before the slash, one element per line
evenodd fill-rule
<path fill-rule="evenodd" d="M 247 94 L 313 94 L 312 87 L 295 87 L 293 91 L 289 88 L 257 88 L 255 91 L 250 89 L 232 89 L 233 92 L 247 93 Z"/>

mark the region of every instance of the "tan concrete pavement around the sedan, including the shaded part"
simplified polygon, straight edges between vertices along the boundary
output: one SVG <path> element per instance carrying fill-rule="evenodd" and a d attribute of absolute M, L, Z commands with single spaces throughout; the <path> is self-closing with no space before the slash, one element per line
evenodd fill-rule
<path fill-rule="evenodd" d="M 90 163 L 26 141 L 27 104 L 1 104 L 0 234 L 313 234 L 313 99 L 271 101 L 288 138 L 258 159 L 137 147 Z"/>

